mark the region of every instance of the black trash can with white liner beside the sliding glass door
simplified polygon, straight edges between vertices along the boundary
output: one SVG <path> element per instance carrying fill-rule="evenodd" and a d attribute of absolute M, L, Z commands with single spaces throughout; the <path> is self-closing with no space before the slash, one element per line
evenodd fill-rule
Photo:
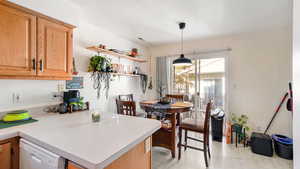
<path fill-rule="evenodd" d="M 211 114 L 212 139 L 214 141 L 222 142 L 223 140 L 224 117 L 225 117 L 225 112 L 222 109 L 216 109 Z"/>

